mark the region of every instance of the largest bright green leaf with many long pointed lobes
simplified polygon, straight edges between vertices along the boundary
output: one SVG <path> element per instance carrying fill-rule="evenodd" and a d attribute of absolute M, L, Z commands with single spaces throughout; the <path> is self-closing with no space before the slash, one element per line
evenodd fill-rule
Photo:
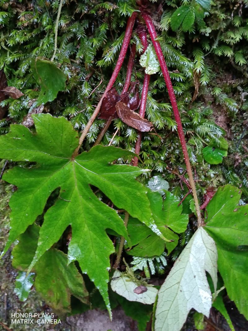
<path fill-rule="evenodd" d="M 11 228 L 4 252 L 43 213 L 50 194 L 60 188 L 54 206 L 44 214 L 29 270 L 71 225 L 69 261 L 78 260 L 82 272 L 94 280 L 109 308 L 109 255 L 114 253 L 114 246 L 105 229 L 112 229 L 126 238 L 127 231 L 117 212 L 100 201 L 90 185 L 99 188 L 117 208 L 141 219 L 161 235 L 151 217 L 147 188 L 136 180 L 146 170 L 110 164 L 132 154 L 112 146 L 95 146 L 73 158 L 79 139 L 70 122 L 49 114 L 32 117 L 36 133 L 14 124 L 7 135 L 0 137 L 1 158 L 36 163 L 29 168 L 16 166 L 3 177 L 18 187 L 10 200 Z"/>

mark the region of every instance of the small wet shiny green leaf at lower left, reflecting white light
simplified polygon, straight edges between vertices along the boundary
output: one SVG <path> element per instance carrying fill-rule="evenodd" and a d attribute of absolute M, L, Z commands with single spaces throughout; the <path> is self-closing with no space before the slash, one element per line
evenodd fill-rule
<path fill-rule="evenodd" d="M 26 272 L 20 271 L 16 278 L 15 282 L 15 290 L 14 292 L 18 296 L 20 301 L 26 301 L 28 295 L 31 291 L 31 287 L 33 286 L 33 273 L 30 273 L 26 277 Z"/>

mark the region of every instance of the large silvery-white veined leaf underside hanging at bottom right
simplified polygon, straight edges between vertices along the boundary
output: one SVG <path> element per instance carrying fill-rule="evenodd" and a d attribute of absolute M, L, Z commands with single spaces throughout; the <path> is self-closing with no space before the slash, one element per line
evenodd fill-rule
<path fill-rule="evenodd" d="M 180 331 L 191 308 L 207 317 L 212 294 L 206 272 L 217 286 L 217 249 L 200 227 L 175 262 L 158 292 L 155 331 Z"/>

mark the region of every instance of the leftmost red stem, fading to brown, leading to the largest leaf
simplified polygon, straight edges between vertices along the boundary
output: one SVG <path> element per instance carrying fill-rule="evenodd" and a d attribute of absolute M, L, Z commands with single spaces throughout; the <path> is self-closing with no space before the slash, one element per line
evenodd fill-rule
<path fill-rule="evenodd" d="M 102 102 L 103 102 L 103 98 L 106 96 L 107 92 L 113 87 L 114 82 L 115 82 L 115 80 L 118 76 L 118 73 L 121 70 L 124 58 L 125 58 L 127 50 L 128 50 L 128 45 L 129 45 L 129 42 L 130 42 L 130 39 L 131 39 L 131 35 L 132 35 L 132 32 L 133 32 L 133 27 L 134 27 L 136 17 L 137 17 L 137 12 L 133 12 L 132 16 L 127 21 L 127 28 L 126 28 L 123 44 L 122 44 L 122 47 L 121 47 L 121 51 L 120 51 L 119 58 L 117 60 L 116 66 L 115 66 L 114 71 L 112 73 L 112 76 L 111 76 L 111 78 L 108 82 L 108 85 L 107 85 L 107 87 L 106 87 L 106 89 L 103 93 L 102 98 L 100 99 L 94 113 L 92 114 L 90 120 L 86 124 L 86 126 L 85 126 L 85 128 L 84 128 L 84 130 L 81 134 L 81 137 L 79 138 L 79 145 L 76 148 L 76 150 L 74 151 L 73 157 L 76 157 L 78 155 L 79 148 L 81 147 L 81 145 L 84 141 L 84 138 L 86 137 L 91 125 L 93 124 L 93 122 L 96 119 L 98 113 L 100 112 L 101 105 L 102 105 Z"/>

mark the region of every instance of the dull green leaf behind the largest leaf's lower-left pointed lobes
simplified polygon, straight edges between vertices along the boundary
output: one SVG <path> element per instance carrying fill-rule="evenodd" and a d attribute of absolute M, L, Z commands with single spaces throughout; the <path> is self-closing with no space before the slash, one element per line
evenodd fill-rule
<path fill-rule="evenodd" d="M 33 224 L 27 228 L 25 233 L 21 234 L 19 243 L 12 252 L 14 267 L 27 270 L 37 249 L 39 230 L 40 227 Z M 34 282 L 36 290 L 60 314 L 70 311 L 71 295 L 83 303 L 88 302 L 88 292 L 82 276 L 74 263 L 67 265 L 67 262 L 66 254 L 51 248 L 36 262 L 32 269 L 36 274 Z M 29 276 L 25 280 L 25 275 L 26 273 L 23 272 L 19 292 L 21 289 L 24 291 L 24 287 L 28 285 L 26 280 L 29 279 Z M 24 294 L 23 292 L 22 295 Z"/>

